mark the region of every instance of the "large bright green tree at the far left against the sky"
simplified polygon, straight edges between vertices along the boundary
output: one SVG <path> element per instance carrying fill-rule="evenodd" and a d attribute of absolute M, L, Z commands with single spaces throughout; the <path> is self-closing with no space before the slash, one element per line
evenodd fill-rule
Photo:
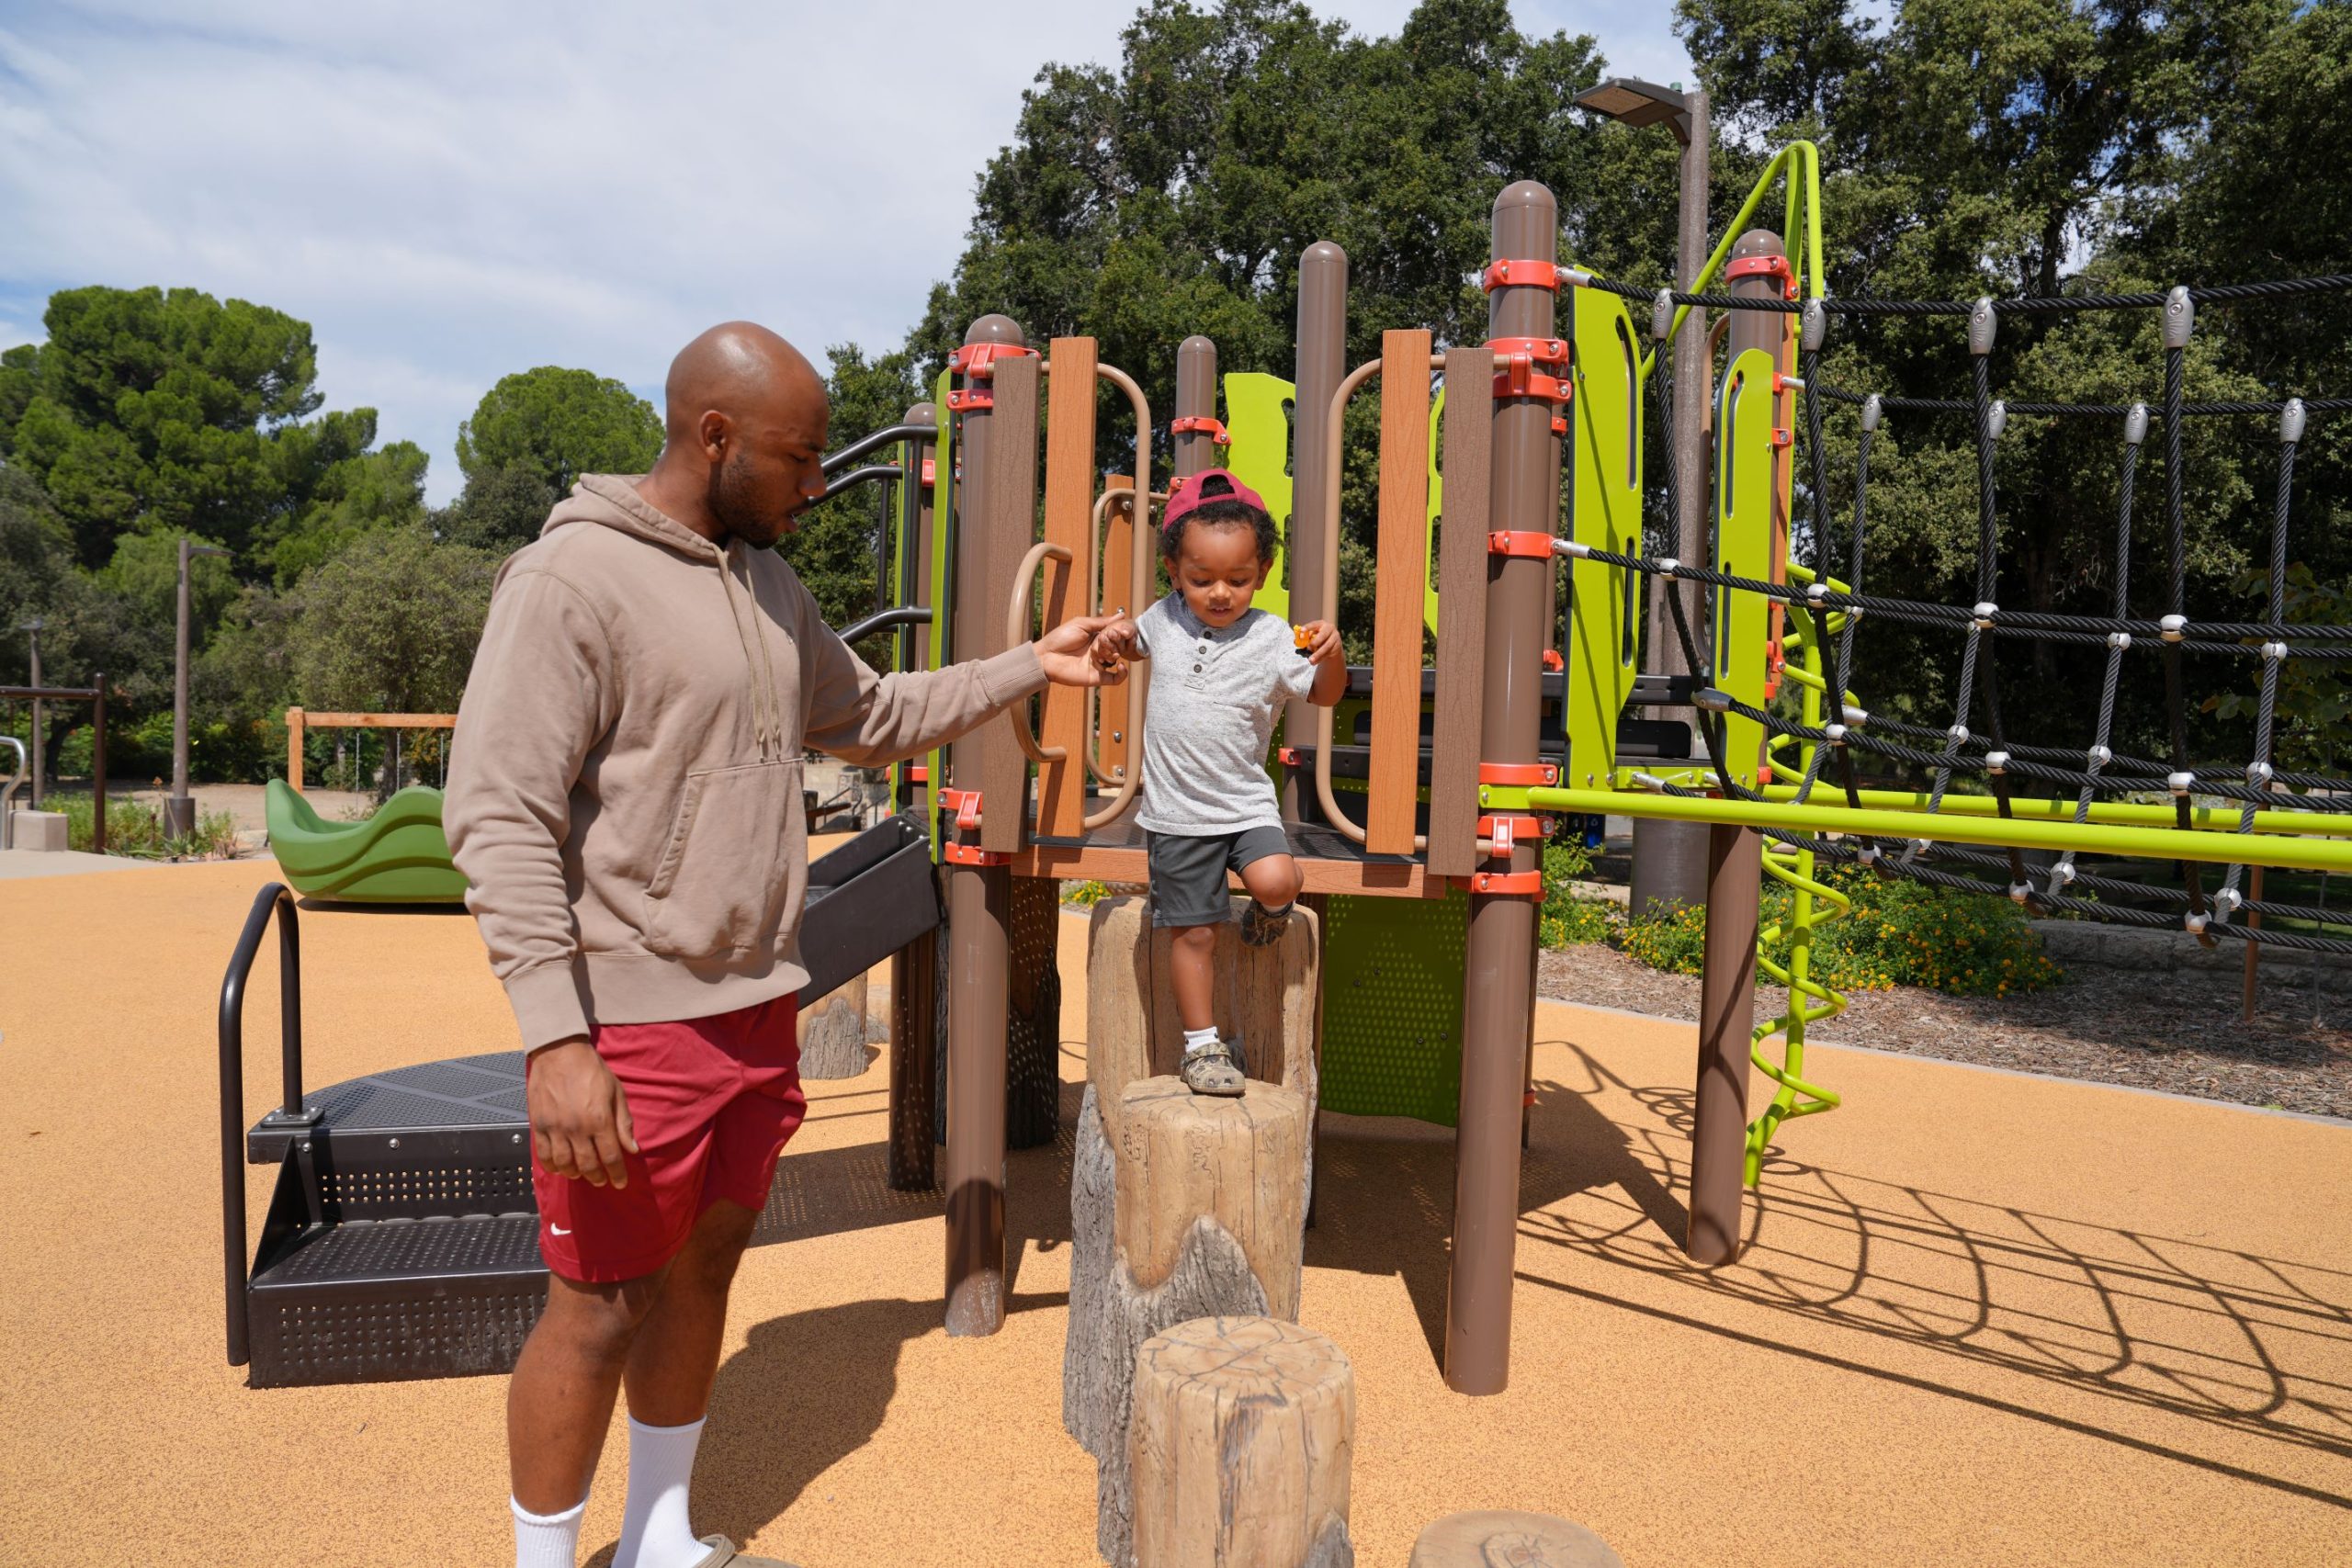
<path fill-rule="evenodd" d="M 56 501 L 85 567 L 129 529 L 247 550 L 376 437 L 318 414 L 310 327 L 198 289 L 64 289 L 47 341 L 0 357 L 0 451 Z"/>

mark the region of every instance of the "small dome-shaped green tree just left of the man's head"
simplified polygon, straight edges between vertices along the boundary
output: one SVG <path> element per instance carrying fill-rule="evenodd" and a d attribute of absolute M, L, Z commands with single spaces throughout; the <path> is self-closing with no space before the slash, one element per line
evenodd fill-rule
<path fill-rule="evenodd" d="M 583 473 L 644 473 L 659 454 L 654 404 L 609 376 L 555 364 L 501 378 L 456 433 L 468 484 L 524 465 L 557 496 Z"/>

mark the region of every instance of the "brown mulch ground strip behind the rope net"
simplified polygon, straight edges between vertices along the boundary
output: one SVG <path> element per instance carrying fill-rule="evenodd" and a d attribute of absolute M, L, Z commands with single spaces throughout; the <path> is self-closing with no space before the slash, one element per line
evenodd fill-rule
<path fill-rule="evenodd" d="M 1541 992 L 1559 1001 L 1698 1020 L 1698 976 L 1613 947 L 1545 952 L 1541 973 Z M 2060 985 L 1999 999 L 1905 985 L 1849 992 L 1846 1011 L 1809 1039 L 2352 1117 L 2352 973 L 2321 976 L 2326 990 L 2291 971 L 2265 976 L 2251 1025 L 2234 976 L 2187 969 L 2079 964 Z M 1757 1023 L 1785 1009 L 1788 992 L 1757 987 Z"/>

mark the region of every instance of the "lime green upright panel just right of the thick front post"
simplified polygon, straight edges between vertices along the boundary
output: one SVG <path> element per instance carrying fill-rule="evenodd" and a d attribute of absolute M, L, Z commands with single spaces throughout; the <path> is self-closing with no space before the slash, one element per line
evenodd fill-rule
<path fill-rule="evenodd" d="M 1569 536 L 1595 550 L 1642 552 L 1642 348 L 1625 301 L 1576 289 L 1569 468 L 1576 489 Z M 1569 771 L 1606 785 L 1616 769 L 1616 724 L 1632 696 L 1639 658 L 1642 574 L 1599 562 L 1569 567 L 1566 729 Z"/>

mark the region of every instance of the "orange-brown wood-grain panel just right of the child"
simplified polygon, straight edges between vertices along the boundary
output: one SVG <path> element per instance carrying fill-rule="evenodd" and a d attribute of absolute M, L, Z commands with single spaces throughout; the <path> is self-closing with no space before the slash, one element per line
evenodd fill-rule
<path fill-rule="evenodd" d="M 1381 534 L 1371 599 L 1371 799 L 1364 849 L 1414 853 L 1421 609 L 1428 590 L 1430 334 L 1381 334 Z"/>

